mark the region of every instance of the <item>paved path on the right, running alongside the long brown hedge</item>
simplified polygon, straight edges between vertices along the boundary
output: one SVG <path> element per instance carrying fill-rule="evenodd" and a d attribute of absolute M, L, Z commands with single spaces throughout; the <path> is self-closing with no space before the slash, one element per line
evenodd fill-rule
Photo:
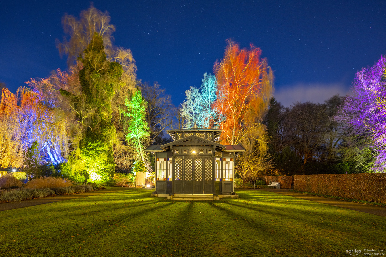
<path fill-rule="evenodd" d="M 364 203 L 353 203 L 353 202 L 347 202 L 343 200 L 337 200 L 332 198 L 326 198 L 326 197 L 318 197 L 315 195 L 306 195 L 302 193 L 296 193 L 289 189 L 274 189 L 274 188 L 264 188 L 264 190 L 273 192 L 273 193 L 279 193 L 282 195 L 289 195 L 291 197 L 297 197 L 305 200 L 310 200 L 318 203 L 325 203 L 329 205 L 334 205 L 337 207 L 343 207 L 350 210 L 356 210 L 358 212 L 366 212 L 366 213 L 372 213 L 375 215 L 386 217 L 386 207 L 376 206 L 376 205 L 369 205 Z"/>

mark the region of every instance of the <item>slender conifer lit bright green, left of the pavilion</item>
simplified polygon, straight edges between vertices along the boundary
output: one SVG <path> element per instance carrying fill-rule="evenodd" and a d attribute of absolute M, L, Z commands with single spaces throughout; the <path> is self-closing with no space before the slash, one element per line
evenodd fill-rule
<path fill-rule="evenodd" d="M 130 101 L 126 98 L 125 104 L 127 111 L 124 115 L 129 117 L 126 140 L 129 143 L 135 142 L 142 161 L 145 161 L 144 154 L 142 153 L 143 144 L 141 142 L 150 135 L 146 122 L 147 102 L 142 98 L 141 90 L 137 90 L 137 92 L 133 93 Z"/>

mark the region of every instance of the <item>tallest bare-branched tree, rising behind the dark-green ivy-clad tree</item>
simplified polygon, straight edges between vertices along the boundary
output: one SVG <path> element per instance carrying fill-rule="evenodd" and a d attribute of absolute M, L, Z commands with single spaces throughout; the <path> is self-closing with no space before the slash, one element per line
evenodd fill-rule
<path fill-rule="evenodd" d="M 72 15 L 64 15 L 62 18 L 64 32 L 67 34 L 63 38 L 63 42 L 56 40 L 59 53 L 68 55 L 69 68 L 73 69 L 74 64 L 79 66 L 79 56 L 85 58 L 83 51 L 90 44 L 95 33 L 102 37 L 103 51 L 106 53 L 107 60 L 110 62 L 118 62 L 123 69 L 119 79 L 119 87 L 114 87 L 113 97 L 110 101 L 112 109 L 112 123 L 115 127 L 116 134 L 113 141 L 114 160 L 118 170 L 128 170 L 132 165 L 132 157 L 135 155 L 131 146 L 125 143 L 125 124 L 127 117 L 123 115 L 125 107 L 125 99 L 130 97 L 135 91 L 137 84 L 135 60 L 130 49 L 116 47 L 112 44 L 112 33 L 115 27 L 110 24 L 110 16 L 107 12 L 101 12 L 92 4 L 87 10 L 80 13 L 80 18 Z M 78 60 L 76 62 L 76 60 Z M 80 69 L 78 69 L 79 71 Z M 79 83 L 78 83 L 79 84 Z M 75 86 L 73 88 L 73 86 Z M 80 96 L 81 86 L 70 84 L 67 91 L 76 96 Z M 78 89 L 78 90 L 76 90 Z M 76 105 L 78 110 L 83 112 L 87 109 L 83 106 L 84 102 L 72 101 L 71 106 Z M 83 106 L 83 107 L 80 107 Z M 83 116 L 83 115 L 82 115 Z M 83 126 L 83 125 L 82 125 Z M 80 140 L 78 140 L 79 142 Z M 78 143 L 73 143 L 74 149 Z M 74 152 L 76 153 L 76 152 Z"/>

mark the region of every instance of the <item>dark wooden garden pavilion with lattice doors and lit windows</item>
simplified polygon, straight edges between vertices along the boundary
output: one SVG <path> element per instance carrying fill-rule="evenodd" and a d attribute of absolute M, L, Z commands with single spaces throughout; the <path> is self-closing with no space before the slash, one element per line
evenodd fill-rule
<path fill-rule="evenodd" d="M 216 200 L 234 193 L 234 160 L 245 149 L 218 143 L 220 129 L 167 131 L 174 141 L 145 149 L 155 155 L 156 186 L 153 197 L 175 200 Z"/>

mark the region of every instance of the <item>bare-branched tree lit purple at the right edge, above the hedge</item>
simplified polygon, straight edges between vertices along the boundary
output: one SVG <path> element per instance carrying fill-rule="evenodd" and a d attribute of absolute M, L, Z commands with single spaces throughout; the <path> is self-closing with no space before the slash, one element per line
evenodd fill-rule
<path fill-rule="evenodd" d="M 357 72 L 352 94 L 346 96 L 337 119 L 350 124 L 358 137 L 366 137 L 374 154 L 372 170 L 386 168 L 386 58 Z"/>

